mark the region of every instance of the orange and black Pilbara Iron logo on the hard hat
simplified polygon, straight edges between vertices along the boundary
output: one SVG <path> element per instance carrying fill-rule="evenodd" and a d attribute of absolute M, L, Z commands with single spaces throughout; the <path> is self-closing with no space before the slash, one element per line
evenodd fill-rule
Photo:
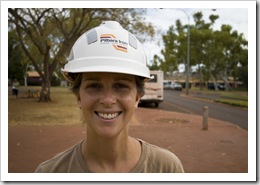
<path fill-rule="evenodd" d="M 112 44 L 116 50 L 127 52 L 128 43 L 120 39 L 117 39 L 113 34 L 102 34 L 100 36 L 100 43 Z"/>

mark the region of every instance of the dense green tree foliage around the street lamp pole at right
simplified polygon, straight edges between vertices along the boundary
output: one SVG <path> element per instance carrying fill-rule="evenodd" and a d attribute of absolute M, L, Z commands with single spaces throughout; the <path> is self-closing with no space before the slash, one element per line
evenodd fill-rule
<path fill-rule="evenodd" d="M 201 12 L 193 14 L 195 23 L 190 25 L 190 65 L 196 66 L 200 82 L 211 80 L 216 84 L 217 79 L 221 79 L 229 88 L 228 77 L 231 76 L 247 84 L 247 40 L 231 25 L 213 30 L 218 18 L 218 15 L 210 15 L 210 22 L 205 22 Z M 159 66 L 163 71 L 171 72 L 172 69 L 177 70 L 179 64 L 187 63 L 187 27 L 177 20 L 162 36 L 163 59 L 157 60 L 161 62 Z"/>

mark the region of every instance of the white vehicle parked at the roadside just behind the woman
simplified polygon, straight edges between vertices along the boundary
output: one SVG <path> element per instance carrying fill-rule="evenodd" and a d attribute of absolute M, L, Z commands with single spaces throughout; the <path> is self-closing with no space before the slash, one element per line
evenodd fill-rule
<path fill-rule="evenodd" d="M 154 103 L 155 107 L 163 101 L 163 71 L 150 71 L 151 80 L 145 83 L 145 94 L 140 103 Z"/>

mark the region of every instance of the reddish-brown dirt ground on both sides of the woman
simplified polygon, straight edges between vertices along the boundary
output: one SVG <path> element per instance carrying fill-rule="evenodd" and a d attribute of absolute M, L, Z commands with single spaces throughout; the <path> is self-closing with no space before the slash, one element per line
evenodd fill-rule
<path fill-rule="evenodd" d="M 155 117 L 156 116 L 156 117 Z M 247 173 L 248 132 L 202 117 L 138 108 L 130 135 L 168 148 L 187 173 Z M 8 172 L 34 172 L 39 163 L 84 139 L 84 126 L 9 126 Z"/>

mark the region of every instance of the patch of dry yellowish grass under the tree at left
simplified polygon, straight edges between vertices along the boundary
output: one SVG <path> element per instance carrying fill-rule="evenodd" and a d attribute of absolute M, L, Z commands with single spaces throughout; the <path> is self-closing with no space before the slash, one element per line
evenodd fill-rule
<path fill-rule="evenodd" d="M 31 87 L 33 89 L 33 87 Z M 25 92 L 24 89 L 20 89 Z M 8 97 L 9 125 L 81 125 L 82 116 L 75 96 L 67 88 L 52 87 L 50 103 L 40 103 L 37 98 Z"/>

